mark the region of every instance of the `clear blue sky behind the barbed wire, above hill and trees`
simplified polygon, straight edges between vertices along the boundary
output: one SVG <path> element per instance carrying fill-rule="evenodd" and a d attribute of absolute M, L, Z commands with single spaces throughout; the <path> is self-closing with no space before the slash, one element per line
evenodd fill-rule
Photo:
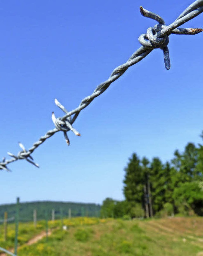
<path fill-rule="evenodd" d="M 192 1 L 6 1 L 0 3 L 0 157 L 28 149 L 63 113 L 108 79 L 140 44 L 155 21 L 139 7 L 172 23 Z M 201 27 L 203 14 L 182 27 Z M 82 110 L 69 132 L 58 132 L 26 161 L 0 172 L 0 204 L 57 200 L 101 203 L 123 199 L 124 167 L 133 152 L 163 162 L 187 142 L 201 143 L 203 33 L 171 35 L 171 69 L 154 50 Z"/>

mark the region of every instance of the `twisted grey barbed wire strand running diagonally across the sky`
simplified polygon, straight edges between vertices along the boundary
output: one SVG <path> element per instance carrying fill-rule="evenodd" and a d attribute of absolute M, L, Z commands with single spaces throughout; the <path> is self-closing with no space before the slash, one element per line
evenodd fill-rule
<path fill-rule="evenodd" d="M 10 171 L 7 167 L 9 163 L 15 162 L 17 160 L 26 160 L 29 163 L 32 163 L 36 167 L 39 167 L 37 163 L 34 162 L 32 156 L 30 155 L 39 145 L 41 145 L 45 140 L 53 136 L 56 132 L 62 131 L 65 137 L 66 143 L 69 145 L 70 141 L 67 135 L 68 131 L 72 131 L 75 135 L 81 136 L 80 133 L 73 128 L 72 124 L 75 122 L 76 118 L 80 114 L 81 110 L 87 107 L 96 97 L 98 97 L 101 93 L 106 91 L 106 89 L 110 86 L 112 82 L 117 80 L 122 74 L 126 72 L 126 70 L 136 64 L 137 62 L 144 59 L 150 52 L 152 52 L 156 48 L 160 48 L 163 51 L 164 55 L 164 63 L 165 68 L 170 69 L 170 58 L 169 58 L 169 35 L 177 34 L 177 35 L 195 35 L 203 31 L 203 29 L 199 28 L 178 28 L 180 25 L 186 23 L 187 21 L 193 19 L 203 12 L 203 0 L 197 0 L 192 3 L 190 6 L 184 10 L 180 16 L 170 25 L 166 25 L 165 21 L 159 15 L 140 7 L 141 15 L 144 17 L 148 17 L 154 19 L 159 24 L 156 24 L 154 27 L 149 27 L 147 29 L 146 34 L 142 34 L 138 40 L 141 43 L 141 47 L 133 53 L 133 55 L 128 59 L 128 61 L 113 70 L 108 80 L 104 81 L 100 85 L 98 85 L 94 92 L 85 97 L 80 105 L 74 110 L 68 112 L 65 107 L 55 99 L 55 104 L 58 106 L 65 115 L 62 117 L 55 116 L 54 112 L 52 112 L 52 121 L 55 125 L 53 130 L 49 130 L 44 136 L 40 137 L 37 142 L 33 144 L 33 146 L 26 150 L 22 143 L 18 142 L 22 151 L 18 152 L 17 155 L 14 155 L 10 152 L 7 152 L 10 159 L 6 160 L 4 157 L 2 162 L 0 162 L 0 170 Z"/>

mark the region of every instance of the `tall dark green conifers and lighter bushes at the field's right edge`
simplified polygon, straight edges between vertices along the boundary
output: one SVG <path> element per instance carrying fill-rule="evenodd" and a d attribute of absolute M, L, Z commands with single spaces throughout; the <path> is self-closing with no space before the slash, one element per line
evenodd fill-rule
<path fill-rule="evenodd" d="M 124 171 L 125 200 L 106 198 L 101 216 L 203 215 L 203 145 L 189 142 L 166 163 L 159 157 L 149 161 L 133 153 Z"/>

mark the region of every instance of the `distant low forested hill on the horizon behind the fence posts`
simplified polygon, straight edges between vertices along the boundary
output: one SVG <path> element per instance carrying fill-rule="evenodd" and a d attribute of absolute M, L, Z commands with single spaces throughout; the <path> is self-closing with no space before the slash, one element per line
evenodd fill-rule
<path fill-rule="evenodd" d="M 37 211 L 37 220 L 45 219 L 48 213 L 48 219 L 52 217 L 52 211 L 55 211 L 55 219 L 67 218 L 69 209 L 71 209 L 71 216 L 99 216 L 99 204 L 83 204 L 72 202 L 55 202 L 55 201 L 36 201 L 25 202 L 19 205 L 19 219 L 21 222 L 32 221 L 33 211 Z M 16 204 L 3 204 L 0 205 L 0 220 L 4 218 L 4 212 L 8 213 L 8 218 L 15 217 Z"/>

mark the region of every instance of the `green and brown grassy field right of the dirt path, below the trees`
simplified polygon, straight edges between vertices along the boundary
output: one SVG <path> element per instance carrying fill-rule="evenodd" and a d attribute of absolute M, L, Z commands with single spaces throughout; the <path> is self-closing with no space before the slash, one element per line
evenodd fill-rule
<path fill-rule="evenodd" d="M 203 255 L 203 218 L 151 220 L 64 220 L 67 231 L 54 229 L 46 242 L 24 244 L 18 256 L 140 256 Z M 49 223 L 51 225 L 51 222 Z M 60 222 L 52 223 L 53 227 Z"/>

